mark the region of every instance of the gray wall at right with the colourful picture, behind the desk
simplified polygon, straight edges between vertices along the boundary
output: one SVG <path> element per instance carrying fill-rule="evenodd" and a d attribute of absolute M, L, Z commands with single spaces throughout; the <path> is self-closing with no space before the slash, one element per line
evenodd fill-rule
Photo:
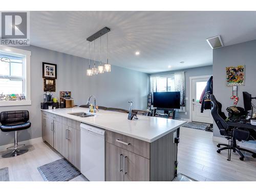
<path fill-rule="evenodd" d="M 226 86 L 225 67 L 245 65 L 245 86 L 238 86 L 239 102 L 237 106 L 243 107 L 243 91 L 253 96 L 256 95 L 256 40 L 243 42 L 232 46 L 214 49 L 213 74 L 214 94 L 216 99 L 222 103 L 222 111 L 226 112 L 227 106 L 233 105 L 230 99 L 232 87 Z M 256 103 L 256 101 L 254 101 Z M 214 124 L 214 136 L 220 136 L 219 129 Z"/>

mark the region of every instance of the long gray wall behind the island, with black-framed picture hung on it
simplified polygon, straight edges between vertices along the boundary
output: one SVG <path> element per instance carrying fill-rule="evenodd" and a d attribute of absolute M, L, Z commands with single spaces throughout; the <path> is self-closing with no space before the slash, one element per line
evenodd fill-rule
<path fill-rule="evenodd" d="M 145 73 L 113 66 L 111 73 L 96 77 L 86 76 L 87 59 L 39 47 L 19 47 L 31 51 L 31 100 L 27 106 L 0 106 L 1 111 L 28 110 L 32 126 L 20 131 L 19 141 L 41 137 L 41 112 L 43 79 L 42 62 L 57 64 L 56 92 L 71 91 L 75 104 L 86 104 L 90 95 L 95 95 L 97 104 L 129 109 L 127 101 L 134 102 L 134 109 L 145 109 L 148 94 L 148 75 Z M 13 142 L 14 135 L 0 132 L 0 145 Z"/>

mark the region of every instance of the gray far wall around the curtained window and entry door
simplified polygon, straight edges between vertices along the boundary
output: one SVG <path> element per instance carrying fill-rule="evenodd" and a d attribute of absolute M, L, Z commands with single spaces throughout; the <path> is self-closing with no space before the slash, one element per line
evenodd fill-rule
<path fill-rule="evenodd" d="M 185 114 L 185 112 L 177 112 L 176 117 L 183 118 L 183 119 L 189 119 L 189 114 L 190 114 L 189 77 L 202 76 L 202 75 L 212 75 L 212 66 L 189 68 L 189 69 L 184 69 L 184 70 L 179 70 L 179 71 L 184 71 L 185 72 L 185 97 L 188 97 L 188 100 L 186 100 L 186 112 L 187 112 L 187 114 Z M 156 73 L 156 74 L 175 73 L 175 72 L 179 72 L 179 71 L 169 71 L 169 72 Z"/>

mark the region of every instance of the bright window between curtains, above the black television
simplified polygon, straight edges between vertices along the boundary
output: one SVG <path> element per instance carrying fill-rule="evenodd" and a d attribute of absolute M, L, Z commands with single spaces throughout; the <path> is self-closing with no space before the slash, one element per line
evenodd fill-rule
<path fill-rule="evenodd" d="M 166 92 L 174 91 L 175 89 L 174 75 L 159 77 L 157 81 L 157 91 Z"/>

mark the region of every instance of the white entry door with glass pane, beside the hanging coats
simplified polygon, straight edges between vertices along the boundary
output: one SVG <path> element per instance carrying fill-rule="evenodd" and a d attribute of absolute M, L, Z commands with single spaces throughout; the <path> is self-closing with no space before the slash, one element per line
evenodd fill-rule
<path fill-rule="evenodd" d="M 207 84 L 209 78 L 195 78 L 191 79 L 191 114 L 192 121 L 202 123 L 212 123 L 213 119 L 210 110 L 204 110 L 201 113 L 201 104 L 199 103 L 201 94 Z"/>

